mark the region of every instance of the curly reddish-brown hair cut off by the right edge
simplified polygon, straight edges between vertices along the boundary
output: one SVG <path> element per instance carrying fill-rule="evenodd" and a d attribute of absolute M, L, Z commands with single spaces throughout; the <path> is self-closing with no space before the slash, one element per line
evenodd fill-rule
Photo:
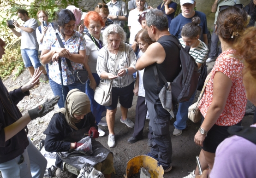
<path fill-rule="evenodd" d="M 251 75 L 256 79 L 256 28 L 250 27 L 244 31 L 244 34 L 237 40 L 234 49 L 241 60 L 248 65 Z"/>

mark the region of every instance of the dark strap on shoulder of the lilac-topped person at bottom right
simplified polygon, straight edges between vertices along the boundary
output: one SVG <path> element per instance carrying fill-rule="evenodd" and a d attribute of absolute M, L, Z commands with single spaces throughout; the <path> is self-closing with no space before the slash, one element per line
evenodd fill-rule
<path fill-rule="evenodd" d="M 230 126 L 227 129 L 231 135 L 243 137 L 250 142 L 256 144 L 256 127 L 251 126 Z"/>

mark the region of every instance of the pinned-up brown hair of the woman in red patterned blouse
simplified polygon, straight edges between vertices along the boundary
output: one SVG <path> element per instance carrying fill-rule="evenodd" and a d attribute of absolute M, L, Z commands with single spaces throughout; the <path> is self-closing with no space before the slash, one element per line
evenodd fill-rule
<path fill-rule="evenodd" d="M 216 22 L 216 34 L 226 42 L 234 42 L 249 23 L 247 12 L 244 9 L 231 6 L 220 14 Z"/>

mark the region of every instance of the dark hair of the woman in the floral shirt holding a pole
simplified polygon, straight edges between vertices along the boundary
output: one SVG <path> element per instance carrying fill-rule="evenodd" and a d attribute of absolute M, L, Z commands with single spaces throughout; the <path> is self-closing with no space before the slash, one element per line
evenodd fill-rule
<path fill-rule="evenodd" d="M 63 27 L 60 32 L 64 38 L 64 25 L 65 23 L 69 23 L 71 20 L 76 21 L 76 17 L 72 11 L 68 9 L 62 9 L 59 11 L 59 13 L 57 13 L 56 20 L 54 23 L 54 29 L 58 29 L 60 31 L 60 26 Z"/>

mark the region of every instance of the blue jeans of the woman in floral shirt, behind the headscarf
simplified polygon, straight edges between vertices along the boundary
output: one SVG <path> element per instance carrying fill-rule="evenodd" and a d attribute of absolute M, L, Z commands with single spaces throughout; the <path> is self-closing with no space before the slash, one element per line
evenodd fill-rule
<path fill-rule="evenodd" d="M 64 94 L 64 99 L 63 99 L 61 85 L 56 83 L 51 78 L 49 78 L 49 83 L 50 83 L 50 86 L 52 88 L 52 91 L 54 92 L 54 96 L 57 96 L 57 95 L 60 96 L 60 100 L 57 103 L 59 108 L 64 108 L 64 106 L 65 106 L 64 103 L 66 101 L 67 93 L 69 91 L 71 91 L 72 89 L 78 89 L 81 92 L 85 93 L 85 84 L 82 84 L 82 83 L 72 83 L 70 85 L 64 85 L 63 86 L 63 88 L 64 88 L 64 93 L 63 93 Z"/>

